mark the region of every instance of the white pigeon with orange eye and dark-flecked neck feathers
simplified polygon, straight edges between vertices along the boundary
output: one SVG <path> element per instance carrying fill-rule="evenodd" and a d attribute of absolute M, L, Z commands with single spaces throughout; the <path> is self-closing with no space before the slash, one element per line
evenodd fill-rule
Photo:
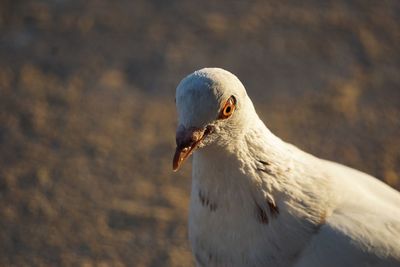
<path fill-rule="evenodd" d="M 273 135 L 235 75 L 190 74 L 176 107 L 197 266 L 400 266 L 400 193 Z"/>

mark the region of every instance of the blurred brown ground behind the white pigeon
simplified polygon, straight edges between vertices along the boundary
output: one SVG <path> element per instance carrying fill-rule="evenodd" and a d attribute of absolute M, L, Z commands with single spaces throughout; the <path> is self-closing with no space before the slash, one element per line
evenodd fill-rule
<path fill-rule="evenodd" d="M 399 189 L 399 25 L 398 0 L 1 0 L 0 265 L 193 266 L 174 92 L 206 66 Z"/>

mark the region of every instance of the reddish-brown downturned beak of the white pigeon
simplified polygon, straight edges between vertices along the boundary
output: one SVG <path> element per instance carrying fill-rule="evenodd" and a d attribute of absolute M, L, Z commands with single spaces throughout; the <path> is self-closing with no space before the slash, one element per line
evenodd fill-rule
<path fill-rule="evenodd" d="M 176 150 L 172 161 L 172 169 L 176 172 L 182 163 L 199 146 L 201 140 L 211 133 L 211 127 L 185 128 L 180 125 L 176 130 Z"/>

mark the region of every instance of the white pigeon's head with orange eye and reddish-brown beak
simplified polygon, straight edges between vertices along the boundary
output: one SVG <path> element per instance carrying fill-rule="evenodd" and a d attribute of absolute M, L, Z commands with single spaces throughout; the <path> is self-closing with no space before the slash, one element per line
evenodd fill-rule
<path fill-rule="evenodd" d="M 204 68 L 185 77 L 176 89 L 175 101 L 174 171 L 198 148 L 229 144 L 246 128 L 249 112 L 254 112 L 243 84 L 220 68 Z"/>

